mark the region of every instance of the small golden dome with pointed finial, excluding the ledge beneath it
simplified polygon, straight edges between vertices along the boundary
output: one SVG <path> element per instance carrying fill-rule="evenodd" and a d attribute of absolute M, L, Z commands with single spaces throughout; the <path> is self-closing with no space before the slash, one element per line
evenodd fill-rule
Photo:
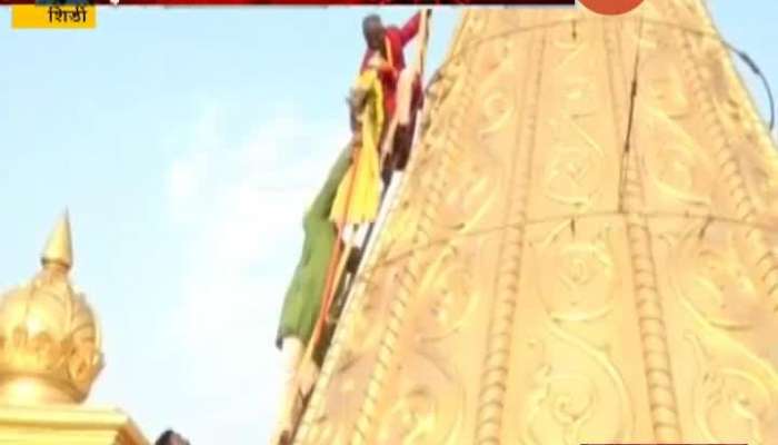
<path fill-rule="evenodd" d="M 68 277 L 72 259 L 66 212 L 41 270 L 0 298 L 0 400 L 80 403 L 102 369 L 100 328 Z"/>

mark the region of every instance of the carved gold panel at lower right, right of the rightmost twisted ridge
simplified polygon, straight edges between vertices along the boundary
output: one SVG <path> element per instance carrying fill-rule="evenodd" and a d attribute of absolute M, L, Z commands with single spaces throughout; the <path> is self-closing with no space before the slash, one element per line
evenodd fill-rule
<path fill-rule="evenodd" d="M 687 388 L 677 392 L 685 439 L 771 443 L 778 323 L 737 243 L 744 228 L 695 219 L 655 227 L 674 374 Z"/>

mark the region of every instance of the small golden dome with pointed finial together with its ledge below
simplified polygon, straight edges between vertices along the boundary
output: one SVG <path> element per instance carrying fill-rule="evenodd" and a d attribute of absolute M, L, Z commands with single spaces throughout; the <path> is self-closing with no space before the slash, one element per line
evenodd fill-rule
<path fill-rule="evenodd" d="M 0 444 L 148 445 L 120 409 L 81 404 L 103 362 L 97 318 L 68 278 L 67 210 L 41 263 L 32 279 L 0 296 Z"/>

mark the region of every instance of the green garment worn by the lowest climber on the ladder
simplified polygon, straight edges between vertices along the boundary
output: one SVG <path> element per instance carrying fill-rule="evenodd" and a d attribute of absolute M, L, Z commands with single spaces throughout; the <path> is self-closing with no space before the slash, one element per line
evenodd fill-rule
<path fill-rule="evenodd" d="M 351 152 L 347 147 L 338 157 L 325 186 L 303 219 L 306 238 L 300 263 L 283 300 L 276 337 L 276 346 L 279 348 L 285 337 L 297 337 L 307 345 L 313 334 L 321 310 L 321 296 L 327 285 L 327 270 L 338 236 L 335 224 L 329 219 L 330 208 L 350 162 Z"/>

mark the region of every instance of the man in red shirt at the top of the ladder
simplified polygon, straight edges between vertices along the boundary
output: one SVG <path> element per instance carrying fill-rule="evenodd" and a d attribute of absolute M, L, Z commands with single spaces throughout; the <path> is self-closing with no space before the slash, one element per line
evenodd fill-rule
<path fill-rule="evenodd" d="M 426 13 L 431 13 L 427 10 Z M 362 32 L 367 42 L 367 50 L 362 58 L 360 71 L 371 67 L 373 57 L 380 56 L 382 63 L 379 68 L 381 85 L 383 86 L 383 105 L 387 119 L 390 120 L 397 110 L 397 85 L 402 70 L 406 68 L 406 59 L 403 49 L 419 32 L 421 22 L 421 12 L 417 12 L 402 27 L 385 27 L 381 18 L 377 14 L 371 14 L 362 21 Z M 421 105 L 422 91 L 420 79 L 413 79 L 411 110 L 417 109 Z M 411 112 L 410 122 L 399 125 L 395 131 L 395 144 L 392 147 L 392 156 L 389 159 L 389 170 L 402 170 L 408 161 L 408 151 L 413 131 L 413 113 Z"/>

